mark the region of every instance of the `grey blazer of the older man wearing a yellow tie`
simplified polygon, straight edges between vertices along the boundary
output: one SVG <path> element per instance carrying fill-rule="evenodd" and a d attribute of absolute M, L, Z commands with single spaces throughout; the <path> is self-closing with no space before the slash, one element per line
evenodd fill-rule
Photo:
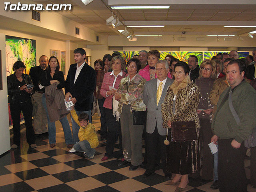
<path fill-rule="evenodd" d="M 173 80 L 167 77 L 167 80 L 164 84 L 164 88 L 162 90 L 161 98 L 156 105 L 156 92 L 157 92 L 157 79 L 153 79 L 147 81 L 144 87 L 144 104 L 148 108 L 147 112 L 147 133 L 153 133 L 156 128 L 160 135 L 166 135 L 166 129 L 163 128 L 163 118 L 162 118 L 162 102 L 164 102 L 164 98 L 166 96 L 167 88 L 172 84 Z"/>

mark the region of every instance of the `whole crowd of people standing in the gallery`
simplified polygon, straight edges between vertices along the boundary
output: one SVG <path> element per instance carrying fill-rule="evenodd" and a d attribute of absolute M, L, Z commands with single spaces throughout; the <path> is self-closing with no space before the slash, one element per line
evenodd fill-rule
<path fill-rule="evenodd" d="M 20 112 L 26 125 L 26 138 L 31 148 L 35 140 L 48 132 L 49 144 L 56 144 L 55 122 L 60 120 L 69 152 L 83 152 L 92 159 L 99 144 L 92 124 L 93 103 L 100 116 L 100 140 L 106 140 L 106 153 L 101 161 L 115 156 L 134 171 L 146 166 L 142 175 L 150 177 L 160 161 L 166 185 L 177 185 L 184 191 L 190 177 L 201 175 L 201 184 L 210 180 L 220 192 L 246 192 L 248 181 L 244 170 L 244 140 L 256 127 L 256 49 L 252 56 L 239 59 L 236 50 L 218 53 L 198 64 L 190 55 L 188 63 L 166 55 L 160 60 L 158 50 L 142 50 L 127 64 L 114 52 L 86 63 L 86 52 L 74 50 L 75 64 L 70 65 L 66 80 L 58 59 L 39 58 L 39 66 L 24 74 L 26 66 L 14 63 L 14 74 L 7 77 L 8 102 L 13 120 L 14 143 L 20 146 Z M 48 64 L 48 66 L 47 66 Z M 250 85 L 251 84 L 251 85 Z M 65 89 L 65 94 L 62 91 Z M 72 101 L 72 133 L 65 102 Z M 232 104 L 230 104 L 232 103 Z M 236 122 L 230 105 L 238 114 Z M 144 123 L 136 123 L 136 114 Z M 34 128 L 32 125 L 34 116 Z M 195 139 L 173 141 L 176 122 L 194 122 Z M 48 125 L 48 128 L 46 127 Z M 142 156 L 145 138 L 145 156 Z M 114 154 L 119 140 L 119 152 Z M 212 154 L 213 142 L 218 152 Z M 251 152 L 251 184 L 256 188 L 256 147 Z"/>

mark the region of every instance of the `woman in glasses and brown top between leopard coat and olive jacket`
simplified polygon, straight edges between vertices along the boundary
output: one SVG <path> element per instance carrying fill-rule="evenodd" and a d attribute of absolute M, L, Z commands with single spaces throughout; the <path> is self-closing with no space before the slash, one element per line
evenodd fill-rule
<path fill-rule="evenodd" d="M 196 85 L 200 90 L 200 100 L 197 113 L 201 127 L 199 129 L 200 150 L 203 154 L 202 184 L 212 180 L 213 176 L 213 156 L 208 144 L 213 136 L 211 122 L 214 105 L 210 104 L 210 92 L 212 91 L 212 86 L 214 80 L 216 79 L 216 75 L 215 61 L 206 59 L 201 63 L 199 78 L 196 79 Z"/>

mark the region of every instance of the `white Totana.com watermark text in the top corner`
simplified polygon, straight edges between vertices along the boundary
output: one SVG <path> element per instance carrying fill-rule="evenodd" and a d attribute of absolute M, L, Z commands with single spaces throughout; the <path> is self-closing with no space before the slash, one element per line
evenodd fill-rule
<path fill-rule="evenodd" d="M 18 4 L 11 4 L 10 2 L 4 2 L 4 4 L 5 4 L 4 10 L 10 10 L 10 11 L 16 11 L 16 10 L 60 11 L 60 10 L 71 10 L 71 7 L 72 7 L 71 4 L 46 4 L 45 7 L 43 4 L 21 4 L 20 2 L 18 2 Z"/>

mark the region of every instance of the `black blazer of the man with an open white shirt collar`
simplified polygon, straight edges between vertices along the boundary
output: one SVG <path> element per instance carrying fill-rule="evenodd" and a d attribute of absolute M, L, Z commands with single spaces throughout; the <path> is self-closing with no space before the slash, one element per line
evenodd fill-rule
<path fill-rule="evenodd" d="M 70 65 L 65 81 L 65 93 L 70 92 L 76 98 L 75 109 L 77 111 L 92 110 L 93 92 L 96 86 L 96 72 L 88 64 L 84 64 L 74 84 L 76 65 Z"/>

